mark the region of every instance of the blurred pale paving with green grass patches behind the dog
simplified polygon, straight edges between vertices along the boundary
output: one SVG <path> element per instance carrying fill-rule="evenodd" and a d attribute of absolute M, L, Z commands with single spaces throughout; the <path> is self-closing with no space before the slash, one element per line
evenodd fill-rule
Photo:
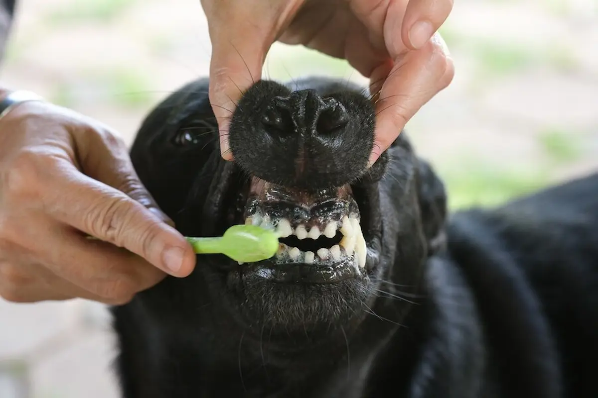
<path fill-rule="evenodd" d="M 198 0 L 21 0 L 1 81 L 117 129 L 130 143 L 169 91 L 207 75 Z M 452 209 L 495 205 L 598 170 L 598 0 L 456 0 L 441 28 L 449 88 L 407 128 Z M 274 45 L 264 77 L 365 82 L 344 61 Z M 1 398 L 116 398 L 105 308 L 0 299 Z"/>

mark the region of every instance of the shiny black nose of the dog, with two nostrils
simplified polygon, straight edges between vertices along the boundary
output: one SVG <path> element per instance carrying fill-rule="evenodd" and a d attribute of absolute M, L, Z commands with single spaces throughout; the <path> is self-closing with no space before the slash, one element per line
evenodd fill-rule
<path fill-rule="evenodd" d="M 302 141 L 318 136 L 325 141 L 327 135 L 340 131 L 348 121 L 343 104 L 332 97 L 322 98 L 313 90 L 272 98 L 262 118 L 264 130 L 270 135 L 296 134 Z"/>

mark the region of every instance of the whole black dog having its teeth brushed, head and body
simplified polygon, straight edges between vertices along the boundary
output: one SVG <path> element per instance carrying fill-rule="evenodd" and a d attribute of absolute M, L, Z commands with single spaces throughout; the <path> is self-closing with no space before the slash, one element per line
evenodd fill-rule
<path fill-rule="evenodd" d="M 598 397 L 598 175 L 446 220 L 404 133 L 367 168 L 364 91 L 294 85 L 245 93 L 234 162 L 206 79 L 144 121 L 133 162 L 184 235 L 247 222 L 282 244 L 115 307 L 123 396 Z"/>

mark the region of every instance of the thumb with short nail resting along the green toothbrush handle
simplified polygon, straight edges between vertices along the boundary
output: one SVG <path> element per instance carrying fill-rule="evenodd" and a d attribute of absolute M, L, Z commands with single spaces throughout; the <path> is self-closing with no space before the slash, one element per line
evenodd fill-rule
<path fill-rule="evenodd" d="M 141 203 L 93 180 L 67 161 L 41 181 L 46 214 L 81 232 L 145 258 L 173 276 L 187 276 L 196 256 L 190 243 Z"/>

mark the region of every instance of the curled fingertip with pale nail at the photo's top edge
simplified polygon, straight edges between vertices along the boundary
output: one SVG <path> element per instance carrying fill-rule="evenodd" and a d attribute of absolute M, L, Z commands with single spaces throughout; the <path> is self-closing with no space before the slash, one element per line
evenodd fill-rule
<path fill-rule="evenodd" d="M 402 41 L 412 50 L 422 48 L 449 17 L 453 0 L 411 0 L 402 21 Z"/>

